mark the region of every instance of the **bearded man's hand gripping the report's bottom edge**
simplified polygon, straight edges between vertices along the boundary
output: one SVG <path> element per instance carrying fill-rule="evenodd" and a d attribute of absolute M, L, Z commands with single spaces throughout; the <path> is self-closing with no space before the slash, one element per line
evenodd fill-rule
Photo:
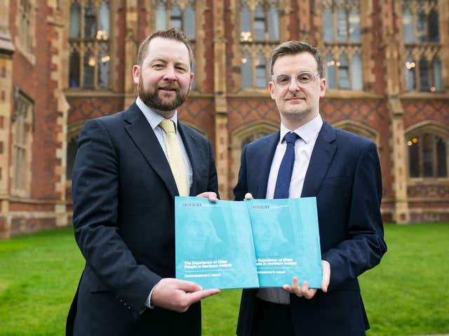
<path fill-rule="evenodd" d="M 202 290 L 200 285 L 192 281 L 163 278 L 153 288 L 151 304 L 154 307 L 182 313 L 187 311 L 194 302 L 217 293 L 220 293 L 220 290 Z"/>

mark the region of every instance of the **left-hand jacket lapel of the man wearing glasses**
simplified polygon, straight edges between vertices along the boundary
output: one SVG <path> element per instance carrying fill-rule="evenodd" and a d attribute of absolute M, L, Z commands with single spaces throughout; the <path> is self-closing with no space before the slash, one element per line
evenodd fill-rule
<path fill-rule="evenodd" d="M 269 171 L 272 168 L 273 156 L 274 152 L 276 152 L 280 136 L 281 132 L 277 131 L 260 142 L 260 149 L 257 150 L 257 157 L 254 159 L 255 166 L 252 167 L 255 169 L 255 172 L 260 172 L 256 184 L 257 191 L 253 194 L 255 199 L 264 199 L 267 196 Z"/>

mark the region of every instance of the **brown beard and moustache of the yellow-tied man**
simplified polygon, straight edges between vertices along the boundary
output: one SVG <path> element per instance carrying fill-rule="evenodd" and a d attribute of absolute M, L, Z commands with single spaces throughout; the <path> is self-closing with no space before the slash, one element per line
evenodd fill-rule
<path fill-rule="evenodd" d="M 165 83 L 164 86 L 156 86 L 153 90 L 153 92 L 145 91 L 145 88 L 143 87 L 143 81 L 142 76 L 139 79 L 139 85 L 138 85 L 138 95 L 139 98 L 142 100 L 142 102 L 147 105 L 150 109 L 155 109 L 157 111 L 161 112 L 170 112 L 174 109 L 177 109 L 177 107 L 180 107 L 183 102 L 185 102 L 187 98 L 187 93 L 185 95 L 182 95 L 180 93 L 180 88 L 177 83 L 170 81 L 168 83 Z M 163 88 L 164 90 L 173 90 L 175 92 L 175 97 L 171 100 L 163 100 L 159 97 L 159 88 Z"/>

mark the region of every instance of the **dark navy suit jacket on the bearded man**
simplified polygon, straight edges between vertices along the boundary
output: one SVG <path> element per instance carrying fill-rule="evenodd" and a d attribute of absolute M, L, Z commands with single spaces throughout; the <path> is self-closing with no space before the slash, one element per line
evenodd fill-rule
<path fill-rule="evenodd" d="M 210 142 L 182 123 L 177 127 L 192 164 L 190 195 L 217 192 Z M 67 335 L 201 335 L 199 303 L 182 314 L 144 306 L 161 278 L 175 277 L 178 192 L 135 103 L 83 126 L 72 188 L 75 238 L 86 267 Z"/>

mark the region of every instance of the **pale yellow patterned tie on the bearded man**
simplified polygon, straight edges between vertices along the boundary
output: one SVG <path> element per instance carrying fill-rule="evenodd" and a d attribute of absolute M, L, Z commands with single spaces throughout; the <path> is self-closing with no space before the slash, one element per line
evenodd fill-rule
<path fill-rule="evenodd" d="M 187 175 L 185 172 L 184 161 L 182 160 L 180 144 L 177 142 L 175 123 L 170 119 L 163 119 L 163 121 L 159 123 L 159 126 L 161 126 L 167 135 L 168 162 L 170 163 L 173 177 L 175 177 L 177 191 L 179 191 L 180 196 L 189 196 Z"/>

